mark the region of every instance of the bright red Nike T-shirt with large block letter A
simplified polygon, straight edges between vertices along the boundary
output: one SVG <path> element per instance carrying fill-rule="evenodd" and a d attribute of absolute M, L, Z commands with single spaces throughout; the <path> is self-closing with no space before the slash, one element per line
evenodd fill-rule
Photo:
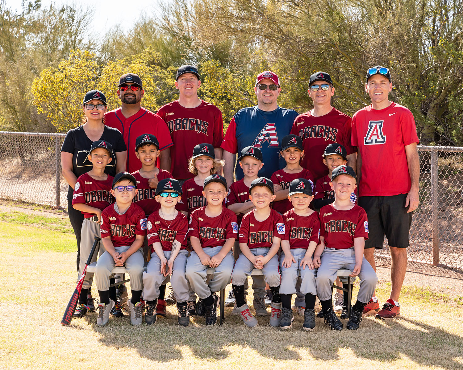
<path fill-rule="evenodd" d="M 362 155 L 360 197 L 405 194 L 412 181 L 405 147 L 418 143 L 413 114 L 400 104 L 375 110 L 372 105 L 352 117 L 352 145 Z"/>

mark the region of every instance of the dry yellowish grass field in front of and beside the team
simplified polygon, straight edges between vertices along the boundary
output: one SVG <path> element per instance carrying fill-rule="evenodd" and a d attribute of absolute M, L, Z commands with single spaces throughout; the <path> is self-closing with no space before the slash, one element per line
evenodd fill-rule
<path fill-rule="evenodd" d="M 463 368 L 461 295 L 406 286 L 400 319 L 364 318 L 355 332 L 334 333 L 317 319 L 316 329 L 306 333 L 299 316 L 286 332 L 269 327 L 268 317 L 246 328 L 231 308 L 225 308 L 222 327 L 192 319 L 183 328 L 175 306 L 150 327 L 132 327 L 127 315 L 97 327 L 96 314 L 63 327 L 76 277 L 67 217 L 0 210 L 0 238 L 0 369 Z M 384 302 L 390 286 L 380 280 Z"/>

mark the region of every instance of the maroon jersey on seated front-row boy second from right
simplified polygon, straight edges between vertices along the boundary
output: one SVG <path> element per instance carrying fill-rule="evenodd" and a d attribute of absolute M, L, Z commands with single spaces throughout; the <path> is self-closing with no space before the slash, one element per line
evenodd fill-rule
<path fill-rule="evenodd" d="M 317 212 L 309 216 L 296 215 L 294 209 L 288 210 L 283 215 L 285 223 L 285 236 L 283 240 L 289 240 L 289 249 L 307 249 L 309 243 L 320 243 L 320 219 Z"/>

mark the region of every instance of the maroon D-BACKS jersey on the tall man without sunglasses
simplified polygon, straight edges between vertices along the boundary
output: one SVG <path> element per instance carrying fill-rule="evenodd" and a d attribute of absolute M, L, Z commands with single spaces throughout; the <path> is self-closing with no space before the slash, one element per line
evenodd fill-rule
<path fill-rule="evenodd" d="M 185 108 L 175 100 L 159 108 L 157 114 L 167 123 L 174 142 L 170 172 L 174 179 L 190 179 L 194 174 L 188 171 L 188 159 L 194 146 L 204 142 L 220 148 L 224 138 L 222 112 L 204 100 L 196 108 Z"/>

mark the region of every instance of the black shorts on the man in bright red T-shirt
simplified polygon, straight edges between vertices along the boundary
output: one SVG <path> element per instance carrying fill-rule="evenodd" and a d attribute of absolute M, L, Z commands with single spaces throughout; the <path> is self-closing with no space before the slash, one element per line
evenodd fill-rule
<path fill-rule="evenodd" d="M 389 247 L 406 248 L 413 212 L 405 208 L 407 194 L 387 197 L 358 197 L 358 205 L 367 212 L 369 236 L 366 248 L 382 249 L 384 235 Z"/>

